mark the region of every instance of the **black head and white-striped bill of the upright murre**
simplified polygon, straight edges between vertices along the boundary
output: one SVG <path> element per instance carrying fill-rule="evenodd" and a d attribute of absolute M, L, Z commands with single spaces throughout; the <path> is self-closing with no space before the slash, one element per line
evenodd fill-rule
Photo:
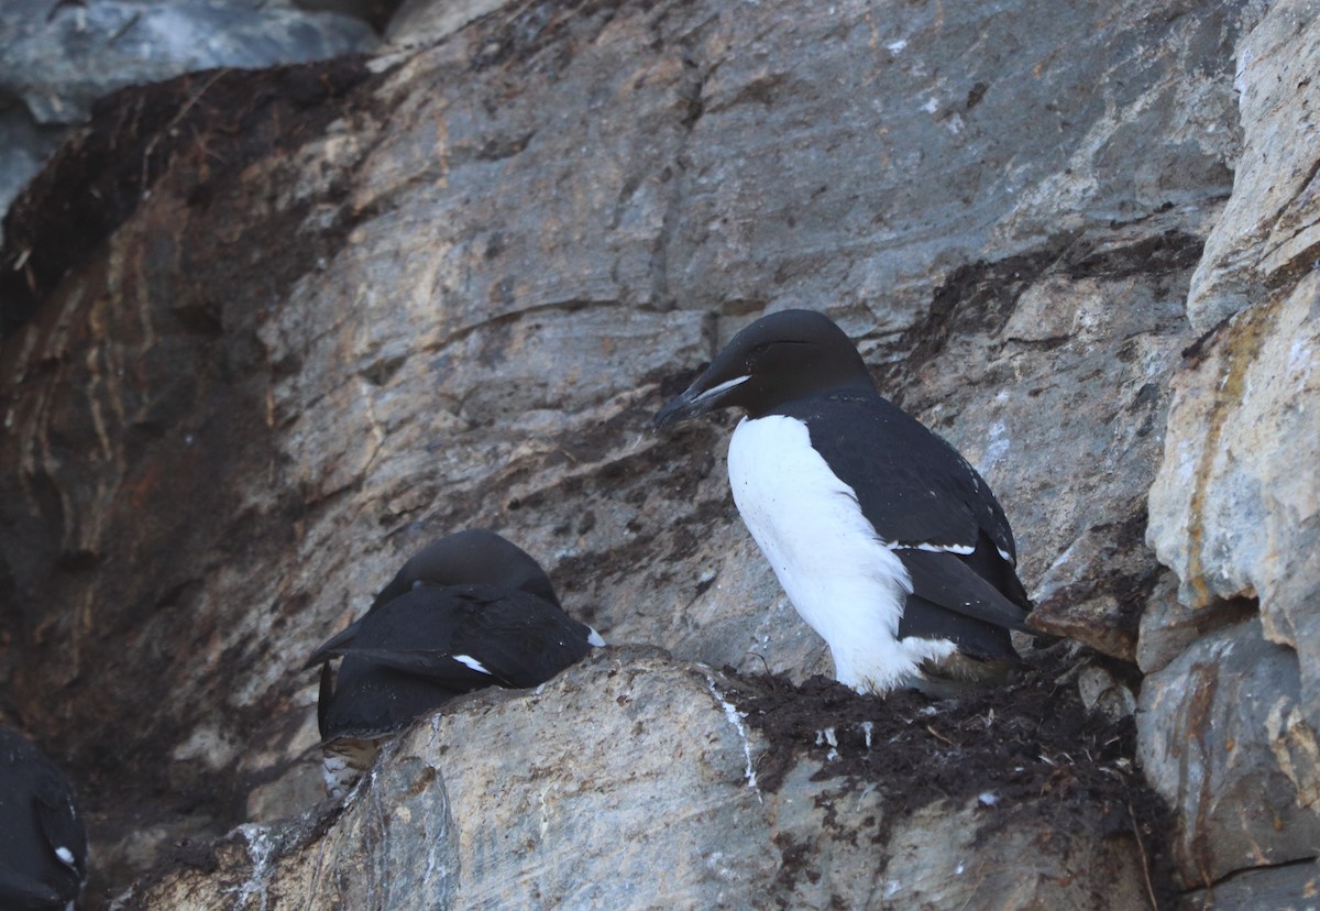
<path fill-rule="evenodd" d="M 760 417 L 785 401 L 847 388 L 875 391 L 853 341 L 822 313 L 781 310 L 734 335 L 692 386 L 660 409 L 655 426 L 730 407 Z"/>

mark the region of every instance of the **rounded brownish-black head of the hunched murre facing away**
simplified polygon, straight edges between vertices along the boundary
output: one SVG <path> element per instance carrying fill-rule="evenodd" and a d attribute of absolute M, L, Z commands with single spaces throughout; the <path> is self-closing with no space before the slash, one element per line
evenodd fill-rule
<path fill-rule="evenodd" d="M 495 585 L 535 594 L 561 607 L 545 570 L 523 548 L 484 528 L 469 528 L 417 552 L 380 590 L 372 607 L 416 585 Z"/>

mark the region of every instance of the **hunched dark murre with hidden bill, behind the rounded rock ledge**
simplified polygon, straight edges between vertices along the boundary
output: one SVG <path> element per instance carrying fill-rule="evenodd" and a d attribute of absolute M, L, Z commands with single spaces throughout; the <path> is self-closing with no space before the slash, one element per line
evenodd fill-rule
<path fill-rule="evenodd" d="M 455 696 L 536 687 L 603 644 L 564 613 L 536 560 L 506 539 L 473 528 L 433 541 L 305 665 L 322 664 L 326 790 L 342 796 L 381 738 Z"/>

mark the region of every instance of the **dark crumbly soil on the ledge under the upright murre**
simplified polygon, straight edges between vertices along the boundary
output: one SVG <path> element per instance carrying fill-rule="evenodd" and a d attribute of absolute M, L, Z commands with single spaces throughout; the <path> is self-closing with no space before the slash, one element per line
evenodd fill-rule
<path fill-rule="evenodd" d="M 1007 685 L 950 700 L 915 691 L 859 696 L 821 676 L 800 687 L 779 676 L 738 676 L 729 693 L 747 722 L 768 739 L 756 779 L 777 791 L 801 755 L 821 763 L 814 780 L 874 786 L 892 815 L 907 816 L 948 799 L 965 803 L 993 792 L 1002 812 L 987 813 L 978 838 L 1018 819 L 1063 832 L 1135 837 L 1159 907 L 1173 907 L 1171 815 L 1135 764 L 1133 718 L 1088 713 L 1065 647 Z M 833 727 L 836 743 L 824 731 Z M 837 754 L 837 755 L 833 755 Z M 1023 811 L 1028 812 L 1028 811 Z M 1084 825 L 1085 823 L 1085 825 Z"/>

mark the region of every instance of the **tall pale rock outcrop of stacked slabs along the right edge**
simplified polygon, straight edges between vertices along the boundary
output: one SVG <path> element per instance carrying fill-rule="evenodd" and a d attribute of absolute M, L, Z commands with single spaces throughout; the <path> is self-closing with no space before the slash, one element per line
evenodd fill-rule
<path fill-rule="evenodd" d="M 1188 317 L 1208 330 L 1173 382 L 1147 539 L 1188 613 L 1258 599 L 1265 634 L 1296 650 L 1320 727 L 1320 279 L 1313 271 L 1320 91 L 1316 4 L 1275 4 L 1243 40 L 1246 148 L 1206 242 Z M 1270 213 L 1262 217 L 1262 213 Z M 1230 316 L 1232 314 L 1232 316 Z M 1156 624 L 1147 624 L 1156 631 Z M 1143 632 L 1144 635 L 1144 632 Z"/>

